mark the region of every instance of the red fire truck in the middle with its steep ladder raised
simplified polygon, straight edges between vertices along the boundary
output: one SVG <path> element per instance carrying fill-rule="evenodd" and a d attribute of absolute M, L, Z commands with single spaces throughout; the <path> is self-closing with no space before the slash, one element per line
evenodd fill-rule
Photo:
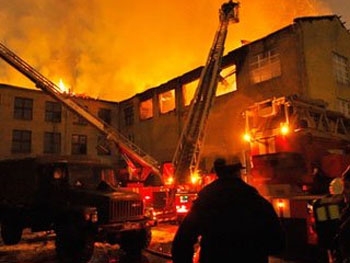
<path fill-rule="evenodd" d="M 156 223 L 181 220 L 203 185 L 202 176 L 198 170 L 201 145 L 218 81 L 221 78 L 221 59 L 228 25 L 239 21 L 238 7 L 238 3 L 230 0 L 224 3 L 219 10 L 219 28 L 186 114 L 185 124 L 173 159 L 171 162 L 163 163 L 160 167 L 162 182 L 153 180 L 152 185 L 147 183 L 159 175 L 159 170 L 156 168 L 159 166 L 154 165 L 155 161 L 152 161 L 150 165 L 150 162 L 145 162 L 144 157 L 140 158 L 132 151 L 125 151 L 124 148 L 119 147 L 127 164 L 124 174 L 138 178 L 137 180 L 126 180 L 126 187 L 142 194 Z"/>

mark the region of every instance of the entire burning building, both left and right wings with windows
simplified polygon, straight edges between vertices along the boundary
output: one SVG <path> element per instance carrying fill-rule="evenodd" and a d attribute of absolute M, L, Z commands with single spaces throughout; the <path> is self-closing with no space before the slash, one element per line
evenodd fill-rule
<path fill-rule="evenodd" d="M 298 95 L 350 116 L 350 34 L 337 16 L 297 18 L 223 58 L 211 110 L 203 170 L 213 158 L 247 150 L 243 111 L 257 101 Z M 202 67 L 123 100 L 79 99 L 160 163 L 171 161 Z M 41 153 L 102 154 L 101 135 L 41 91 L 0 88 L 0 157 Z M 105 156 L 105 155 L 104 155 Z"/>

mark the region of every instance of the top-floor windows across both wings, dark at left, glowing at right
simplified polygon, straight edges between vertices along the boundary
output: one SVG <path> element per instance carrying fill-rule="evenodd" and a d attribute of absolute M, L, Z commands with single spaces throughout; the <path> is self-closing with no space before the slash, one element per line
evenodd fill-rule
<path fill-rule="evenodd" d="M 333 68 L 338 83 L 349 85 L 349 66 L 348 59 L 337 53 L 333 53 Z M 249 63 L 250 79 L 252 83 L 260 83 L 272 78 L 279 77 L 281 72 L 280 53 L 276 49 L 261 52 L 252 56 Z M 221 71 L 217 96 L 237 90 L 236 83 L 236 66 L 229 66 Z M 190 104 L 194 96 L 194 92 L 198 86 L 198 79 L 186 83 L 182 86 L 182 94 L 184 105 Z M 159 112 L 166 114 L 175 110 L 175 89 L 158 94 Z M 14 103 L 14 118 L 22 120 L 31 120 L 33 118 L 33 100 L 29 98 L 16 97 Z M 87 109 L 87 108 L 86 108 Z M 61 122 L 62 106 L 60 103 L 47 101 L 45 103 L 45 121 Z M 134 124 L 134 107 L 132 105 L 123 109 L 124 125 L 130 126 Z M 140 120 L 147 120 L 153 117 L 153 98 L 141 101 L 139 104 Z M 106 123 L 111 123 L 111 111 L 109 109 L 99 109 L 98 117 Z M 74 115 L 73 123 L 78 125 L 86 125 L 85 119 L 78 115 Z"/>

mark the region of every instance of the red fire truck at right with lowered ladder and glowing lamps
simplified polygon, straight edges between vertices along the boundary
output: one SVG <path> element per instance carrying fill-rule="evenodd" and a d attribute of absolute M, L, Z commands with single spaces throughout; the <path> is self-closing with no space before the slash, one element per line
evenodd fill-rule
<path fill-rule="evenodd" d="M 321 100 L 291 95 L 254 103 L 244 112 L 248 182 L 274 205 L 285 225 L 287 253 L 317 245 L 310 193 L 314 164 L 330 178 L 350 164 L 350 119 Z M 307 250 L 307 251 L 306 251 Z"/>

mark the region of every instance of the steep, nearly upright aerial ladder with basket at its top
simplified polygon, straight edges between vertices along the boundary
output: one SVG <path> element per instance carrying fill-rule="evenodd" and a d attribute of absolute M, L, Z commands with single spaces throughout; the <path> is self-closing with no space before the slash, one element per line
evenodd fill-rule
<path fill-rule="evenodd" d="M 223 4 L 219 10 L 220 25 L 215 34 L 206 65 L 201 72 L 172 160 L 175 169 L 175 180 L 178 184 L 188 183 L 190 175 L 198 170 L 205 127 L 220 77 L 227 28 L 230 22 L 238 22 L 238 6 L 238 3 L 230 0 Z"/>

